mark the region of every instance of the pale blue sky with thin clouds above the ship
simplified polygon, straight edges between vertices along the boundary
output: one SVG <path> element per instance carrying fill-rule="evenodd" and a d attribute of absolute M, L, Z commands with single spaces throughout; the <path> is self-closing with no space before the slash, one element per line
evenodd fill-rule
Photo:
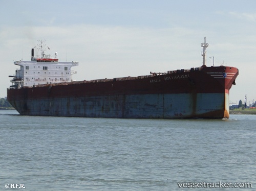
<path fill-rule="evenodd" d="M 30 61 L 46 40 L 59 61 L 78 61 L 73 80 L 149 75 L 207 66 L 237 67 L 230 104 L 256 101 L 254 0 L 0 0 L 0 98 L 7 96 L 14 60 Z M 214 87 L 212 87 L 214 88 Z"/>

